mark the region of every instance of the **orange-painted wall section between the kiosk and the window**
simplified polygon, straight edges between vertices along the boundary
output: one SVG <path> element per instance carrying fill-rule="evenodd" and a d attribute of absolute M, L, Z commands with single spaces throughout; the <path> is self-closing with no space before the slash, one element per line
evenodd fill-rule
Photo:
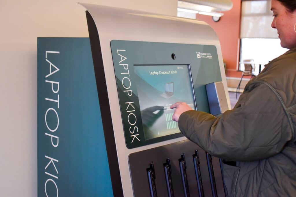
<path fill-rule="evenodd" d="M 214 22 L 211 16 L 202 14 L 196 14 L 196 19 L 205 21 L 215 30 L 220 40 L 226 69 L 231 69 L 226 71 L 226 76 L 240 78 L 242 73 L 235 70 L 239 62 L 241 0 L 232 0 L 232 3 L 232 9 L 223 12 L 224 15 L 218 22 Z"/>

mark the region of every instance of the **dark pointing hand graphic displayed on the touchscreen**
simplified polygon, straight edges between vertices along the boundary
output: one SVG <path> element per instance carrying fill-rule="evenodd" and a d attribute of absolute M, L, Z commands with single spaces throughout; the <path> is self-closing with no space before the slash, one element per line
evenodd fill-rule
<path fill-rule="evenodd" d="M 163 114 L 163 106 L 152 106 L 141 111 L 143 125 L 151 126 Z"/>

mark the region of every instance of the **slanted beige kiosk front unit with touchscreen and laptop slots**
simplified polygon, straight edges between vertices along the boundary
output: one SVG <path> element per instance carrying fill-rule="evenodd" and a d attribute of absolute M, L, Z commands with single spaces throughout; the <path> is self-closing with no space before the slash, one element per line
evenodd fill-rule
<path fill-rule="evenodd" d="M 200 170 L 204 195 L 223 195 L 221 172 L 214 172 L 211 156 L 182 137 L 169 109 L 176 101 L 183 101 L 193 109 L 210 112 L 205 85 L 226 84 L 213 29 L 196 20 L 82 5 L 88 10 L 100 104 L 110 111 L 102 121 L 103 127 L 106 122 L 105 136 L 112 135 L 107 143 L 113 149 L 108 152 L 107 145 L 107 153 L 112 155 L 109 165 L 111 179 L 114 172 L 117 180 L 112 181 L 118 187 L 116 192 L 124 196 L 200 195 L 192 173 L 192 155 L 197 150 L 199 166 L 210 169 Z M 164 92 L 164 86 L 173 93 Z M 226 86 L 219 87 L 225 111 L 229 109 Z M 164 170 L 168 163 L 170 184 Z"/>

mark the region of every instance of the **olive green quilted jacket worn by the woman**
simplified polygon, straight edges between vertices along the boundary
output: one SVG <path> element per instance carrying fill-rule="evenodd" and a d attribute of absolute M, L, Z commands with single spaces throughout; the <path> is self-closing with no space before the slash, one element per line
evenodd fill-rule
<path fill-rule="evenodd" d="M 223 162 L 229 196 L 296 196 L 296 48 L 250 80 L 234 109 L 179 117 L 181 132 Z"/>

